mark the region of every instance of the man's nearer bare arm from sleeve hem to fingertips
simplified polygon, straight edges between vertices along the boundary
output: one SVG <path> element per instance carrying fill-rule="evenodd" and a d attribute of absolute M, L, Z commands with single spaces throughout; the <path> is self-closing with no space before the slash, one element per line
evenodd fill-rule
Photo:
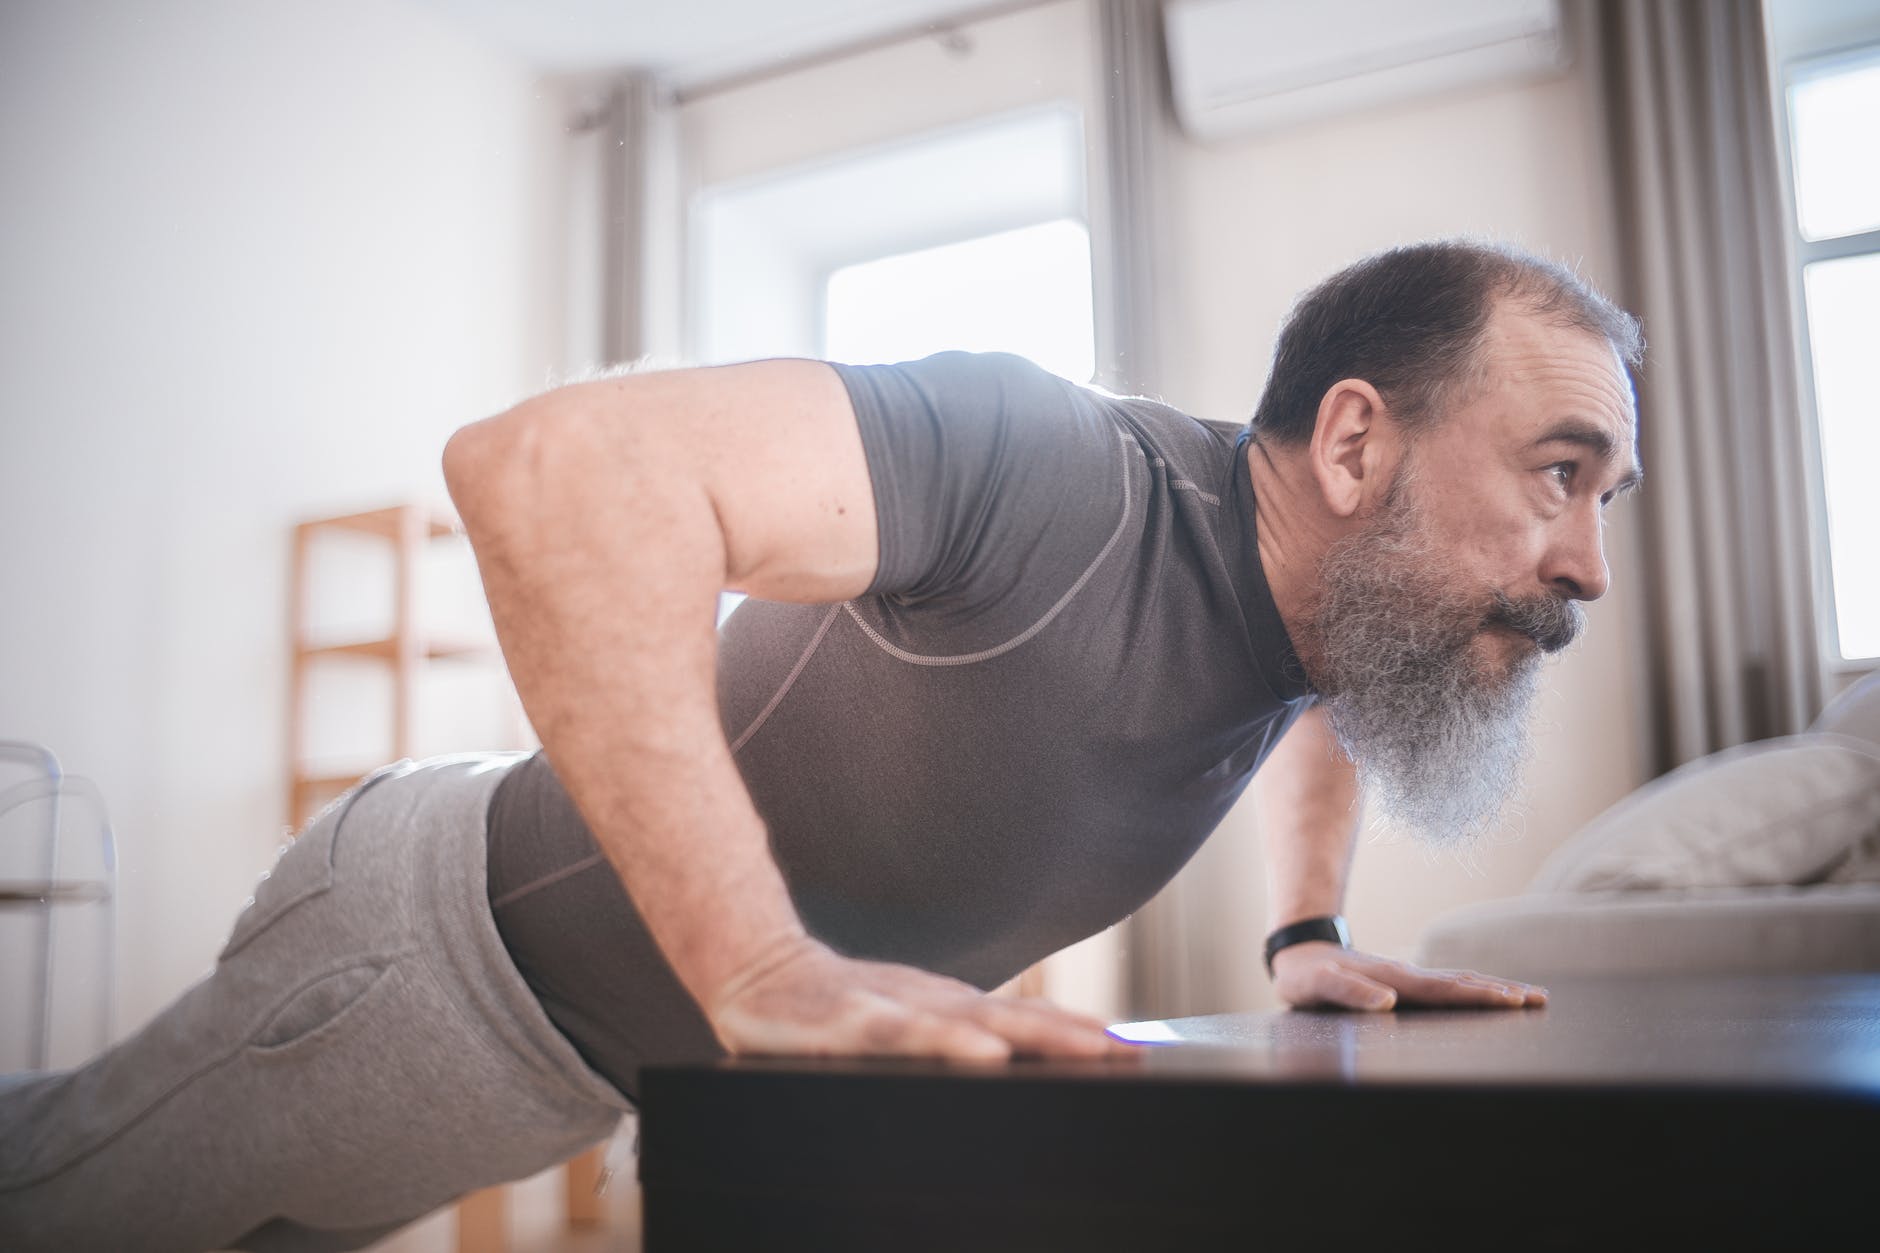
<path fill-rule="evenodd" d="M 1096 1055 L 1102 1023 L 816 943 L 718 722 L 716 602 L 861 595 L 876 568 L 848 393 L 816 361 L 630 374 L 444 453 L 523 706 L 731 1052 Z"/>

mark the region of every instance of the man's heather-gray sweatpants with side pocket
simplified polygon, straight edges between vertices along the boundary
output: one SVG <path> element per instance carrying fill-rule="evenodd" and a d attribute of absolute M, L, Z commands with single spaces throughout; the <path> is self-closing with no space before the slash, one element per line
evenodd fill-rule
<path fill-rule="evenodd" d="M 0 1089 L 0 1249 L 353 1249 L 609 1134 L 626 1101 L 491 922 L 513 758 L 400 762 L 282 854 L 143 1031 Z"/>

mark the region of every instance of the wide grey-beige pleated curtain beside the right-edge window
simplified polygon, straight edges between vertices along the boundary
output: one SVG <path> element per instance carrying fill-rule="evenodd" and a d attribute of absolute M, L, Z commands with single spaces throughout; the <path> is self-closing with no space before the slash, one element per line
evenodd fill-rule
<path fill-rule="evenodd" d="M 1596 0 L 1639 444 L 1654 751 L 1797 732 L 1822 698 L 1790 235 L 1754 0 Z"/>

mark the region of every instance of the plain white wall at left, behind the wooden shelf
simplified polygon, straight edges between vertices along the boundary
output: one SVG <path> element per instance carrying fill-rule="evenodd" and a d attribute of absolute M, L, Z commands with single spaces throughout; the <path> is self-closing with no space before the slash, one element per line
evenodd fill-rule
<path fill-rule="evenodd" d="M 111 803 L 120 1033 L 280 839 L 290 525 L 560 365 L 562 111 L 393 0 L 0 8 L 0 738 Z"/>

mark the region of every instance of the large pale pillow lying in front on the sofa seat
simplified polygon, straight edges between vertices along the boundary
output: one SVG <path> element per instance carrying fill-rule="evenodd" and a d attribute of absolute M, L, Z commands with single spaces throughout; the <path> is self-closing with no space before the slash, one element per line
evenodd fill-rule
<path fill-rule="evenodd" d="M 1880 835 L 1880 749 L 1809 732 L 1673 769 L 1562 845 L 1530 892 L 1814 882 Z"/>

